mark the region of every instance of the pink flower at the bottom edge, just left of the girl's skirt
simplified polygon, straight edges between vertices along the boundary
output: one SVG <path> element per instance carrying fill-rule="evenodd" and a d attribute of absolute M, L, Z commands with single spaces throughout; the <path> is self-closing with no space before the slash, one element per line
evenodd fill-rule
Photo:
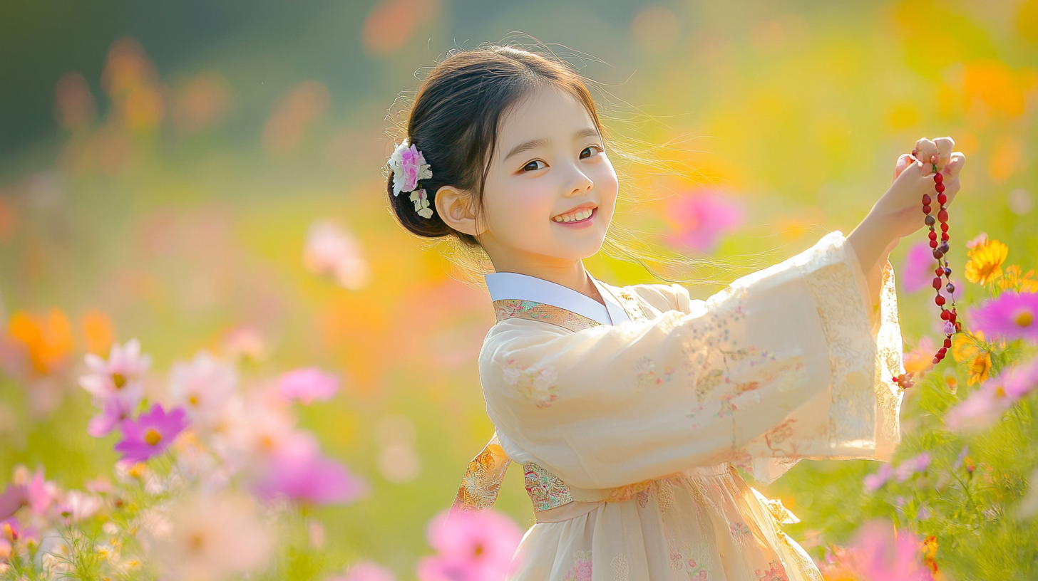
<path fill-rule="evenodd" d="M 504 579 L 522 530 L 493 509 L 447 508 L 430 521 L 426 536 L 438 554 L 418 560 L 420 581 L 482 581 Z"/>

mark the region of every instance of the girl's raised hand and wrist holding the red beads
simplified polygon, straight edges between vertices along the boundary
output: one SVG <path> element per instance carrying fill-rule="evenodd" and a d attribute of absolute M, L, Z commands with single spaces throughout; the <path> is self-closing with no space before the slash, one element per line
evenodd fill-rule
<path fill-rule="evenodd" d="M 952 151 L 955 141 L 951 137 L 938 137 L 933 141 L 923 138 L 916 142 L 916 157 L 902 154 L 894 169 L 891 188 L 876 201 L 866 221 L 880 221 L 882 230 L 891 242 L 911 234 L 924 226 L 923 194 L 935 198 L 933 189 L 933 165 L 944 174 L 947 208 L 959 191 L 959 171 L 965 164 L 961 151 Z M 936 214 L 936 199 L 931 204 Z"/>

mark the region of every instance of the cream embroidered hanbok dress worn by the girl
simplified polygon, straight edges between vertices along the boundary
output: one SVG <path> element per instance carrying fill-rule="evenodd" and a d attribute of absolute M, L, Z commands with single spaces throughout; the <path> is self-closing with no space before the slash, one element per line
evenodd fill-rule
<path fill-rule="evenodd" d="M 801 459 L 889 460 L 903 372 L 890 262 L 878 305 L 840 232 L 706 301 L 594 280 L 605 306 L 495 273 L 480 354 L 494 438 L 456 510 L 491 506 L 511 462 L 537 523 L 515 581 L 821 579 L 769 482 Z"/>

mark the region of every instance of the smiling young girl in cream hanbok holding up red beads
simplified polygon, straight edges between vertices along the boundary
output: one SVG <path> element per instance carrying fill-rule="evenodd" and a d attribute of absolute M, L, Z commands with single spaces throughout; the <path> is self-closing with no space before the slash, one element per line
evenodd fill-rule
<path fill-rule="evenodd" d="M 887 254 L 920 200 L 958 191 L 953 141 L 921 139 L 848 236 L 830 232 L 706 301 L 613 286 L 599 251 L 619 184 L 582 78 L 507 46 L 455 52 L 417 91 L 387 192 L 400 223 L 485 251 L 496 311 L 480 353 L 496 426 L 459 510 L 522 464 L 537 523 L 515 580 L 821 579 L 749 488 L 801 459 L 889 460 L 903 371 Z"/>

